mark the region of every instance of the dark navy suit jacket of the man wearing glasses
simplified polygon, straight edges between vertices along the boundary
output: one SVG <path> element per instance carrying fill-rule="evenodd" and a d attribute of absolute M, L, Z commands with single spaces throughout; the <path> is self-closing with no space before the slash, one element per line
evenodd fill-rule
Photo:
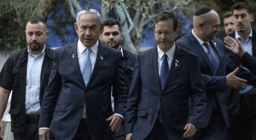
<path fill-rule="evenodd" d="M 193 104 L 191 110 L 189 97 Z M 133 140 L 147 137 L 157 120 L 160 106 L 170 140 L 185 139 L 183 129 L 186 123 L 199 128 L 206 104 L 198 57 L 177 45 L 163 90 L 158 73 L 157 47 L 137 56 L 126 105 L 125 134 L 133 133 Z"/>

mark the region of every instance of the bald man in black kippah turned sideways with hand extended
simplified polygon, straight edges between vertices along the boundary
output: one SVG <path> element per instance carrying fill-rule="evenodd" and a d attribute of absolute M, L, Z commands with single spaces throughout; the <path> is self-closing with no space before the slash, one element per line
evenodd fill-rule
<path fill-rule="evenodd" d="M 220 18 L 216 11 L 201 7 L 193 16 L 192 31 L 176 42 L 199 57 L 206 89 L 207 108 L 201 129 L 194 135 L 194 140 L 227 140 L 226 127 L 229 122 L 223 94 L 226 86 L 237 89 L 245 86 L 247 81 L 247 84 L 256 84 L 256 77 L 246 70 L 238 69 L 227 55 L 224 43 L 215 39 L 220 31 L 219 24 Z"/>

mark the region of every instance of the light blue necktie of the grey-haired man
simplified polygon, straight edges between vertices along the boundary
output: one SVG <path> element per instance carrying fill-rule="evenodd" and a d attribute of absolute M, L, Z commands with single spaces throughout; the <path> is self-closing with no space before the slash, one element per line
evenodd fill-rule
<path fill-rule="evenodd" d="M 85 86 L 87 86 L 88 81 L 90 79 L 90 75 L 91 75 L 91 70 L 92 70 L 92 64 L 90 62 L 90 53 L 91 53 L 91 49 L 90 48 L 86 48 L 86 54 L 84 57 L 84 67 L 83 67 L 83 71 L 82 71 L 82 76 L 84 79 L 84 84 Z M 86 118 L 86 107 L 84 104 L 84 109 L 83 109 L 83 115 L 82 118 Z"/>

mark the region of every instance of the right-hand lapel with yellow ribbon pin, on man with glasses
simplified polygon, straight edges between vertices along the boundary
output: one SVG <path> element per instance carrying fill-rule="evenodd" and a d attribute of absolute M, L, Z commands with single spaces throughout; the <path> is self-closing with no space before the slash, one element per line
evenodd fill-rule
<path fill-rule="evenodd" d="M 171 63 L 171 66 L 170 66 L 170 70 L 169 70 L 169 74 L 168 74 L 168 76 L 166 78 L 166 82 L 165 82 L 165 85 L 163 87 L 163 90 L 166 88 L 166 85 L 171 80 L 172 75 L 174 74 L 175 70 L 179 66 L 179 63 L 181 61 L 181 58 L 180 58 L 181 55 L 182 54 L 181 54 L 180 48 L 176 45 L 175 53 L 174 53 L 174 56 L 173 56 L 173 59 L 172 59 L 172 63 Z"/>

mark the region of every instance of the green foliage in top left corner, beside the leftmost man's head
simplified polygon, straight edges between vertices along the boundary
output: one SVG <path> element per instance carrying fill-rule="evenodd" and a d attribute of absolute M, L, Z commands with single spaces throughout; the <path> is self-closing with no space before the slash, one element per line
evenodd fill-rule
<path fill-rule="evenodd" d="M 40 0 L 0 0 L 0 51 L 26 48 L 25 24 L 39 14 L 44 4 Z"/>

